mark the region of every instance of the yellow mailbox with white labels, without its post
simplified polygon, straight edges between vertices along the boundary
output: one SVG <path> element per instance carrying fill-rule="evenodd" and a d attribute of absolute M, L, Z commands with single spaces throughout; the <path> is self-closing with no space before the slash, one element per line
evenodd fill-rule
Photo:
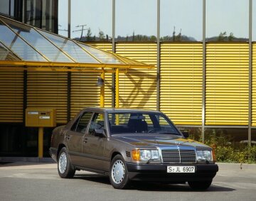
<path fill-rule="evenodd" d="M 27 108 L 26 126 L 28 127 L 55 127 L 56 110 L 47 108 Z"/>

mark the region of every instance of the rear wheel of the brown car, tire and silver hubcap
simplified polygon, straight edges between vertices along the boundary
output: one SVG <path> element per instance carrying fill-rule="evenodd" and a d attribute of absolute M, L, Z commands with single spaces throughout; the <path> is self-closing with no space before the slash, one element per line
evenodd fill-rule
<path fill-rule="evenodd" d="M 70 162 L 67 148 L 60 149 L 58 154 L 58 174 L 60 178 L 73 178 L 75 175 L 75 168 Z"/>

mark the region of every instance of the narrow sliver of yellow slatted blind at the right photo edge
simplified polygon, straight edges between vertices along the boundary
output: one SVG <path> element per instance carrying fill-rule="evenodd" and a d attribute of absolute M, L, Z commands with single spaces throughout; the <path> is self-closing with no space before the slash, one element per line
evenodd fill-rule
<path fill-rule="evenodd" d="M 256 126 L 256 43 L 252 43 L 252 126 Z"/>

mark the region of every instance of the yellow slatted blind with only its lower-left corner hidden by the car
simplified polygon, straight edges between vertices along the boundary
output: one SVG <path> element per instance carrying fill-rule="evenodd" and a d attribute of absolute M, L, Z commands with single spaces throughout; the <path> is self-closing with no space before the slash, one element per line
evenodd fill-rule
<path fill-rule="evenodd" d="M 177 125 L 202 123 L 203 45 L 162 43 L 160 109 Z"/>

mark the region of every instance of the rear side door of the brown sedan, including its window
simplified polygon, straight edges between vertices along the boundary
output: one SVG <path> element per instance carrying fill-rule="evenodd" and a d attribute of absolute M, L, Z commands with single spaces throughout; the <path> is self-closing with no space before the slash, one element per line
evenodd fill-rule
<path fill-rule="evenodd" d="M 84 112 L 70 131 L 65 134 L 65 141 L 68 145 L 68 153 L 73 165 L 82 164 L 82 137 L 85 135 L 87 125 L 92 117 L 92 112 Z"/>

